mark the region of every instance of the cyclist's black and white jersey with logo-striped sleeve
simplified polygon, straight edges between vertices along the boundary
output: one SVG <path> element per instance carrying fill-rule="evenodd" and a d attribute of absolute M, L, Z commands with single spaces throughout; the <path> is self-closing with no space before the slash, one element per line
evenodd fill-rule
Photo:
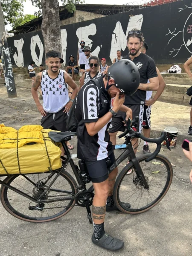
<path fill-rule="evenodd" d="M 108 128 L 111 120 L 96 135 L 87 133 L 85 123 L 97 122 L 111 108 L 111 98 L 105 90 L 103 78 L 98 79 L 99 87 L 93 81 L 87 81 L 81 88 L 76 102 L 76 119 L 84 122 L 77 128 L 77 157 L 85 161 L 97 161 L 107 158 L 113 151 Z"/>

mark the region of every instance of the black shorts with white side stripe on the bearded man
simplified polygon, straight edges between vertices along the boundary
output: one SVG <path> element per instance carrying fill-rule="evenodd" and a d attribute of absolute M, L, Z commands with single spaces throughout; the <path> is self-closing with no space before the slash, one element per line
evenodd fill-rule
<path fill-rule="evenodd" d="M 142 131 L 142 124 L 143 124 L 143 112 L 144 112 L 144 105 L 130 105 L 127 106 L 131 108 L 133 112 L 133 119 L 135 116 L 139 116 L 139 122 L 137 127 L 139 127 L 139 132 Z M 126 113 L 122 111 L 118 111 L 117 115 L 112 118 L 111 125 L 109 126 L 109 133 L 117 132 L 117 131 L 125 131 L 125 126 L 122 121 L 125 120 Z"/>

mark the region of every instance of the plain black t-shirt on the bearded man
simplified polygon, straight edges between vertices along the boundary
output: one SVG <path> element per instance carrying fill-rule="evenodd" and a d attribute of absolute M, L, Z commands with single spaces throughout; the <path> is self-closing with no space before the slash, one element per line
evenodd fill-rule
<path fill-rule="evenodd" d="M 129 55 L 126 55 L 123 58 L 131 60 Z M 141 52 L 138 57 L 133 59 L 133 62 L 139 70 L 141 84 L 147 84 L 148 79 L 158 76 L 154 60 L 148 55 Z M 143 105 L 145 104 L 145 99 L 146 91 L 138 89 L 132 96 L 125 95 L 124 105 Z"/>

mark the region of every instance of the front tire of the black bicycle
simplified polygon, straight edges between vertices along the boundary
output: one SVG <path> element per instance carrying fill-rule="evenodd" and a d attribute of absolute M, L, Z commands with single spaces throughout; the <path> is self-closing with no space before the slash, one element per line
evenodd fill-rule
<path fill-rule="evenodd" d="M 148 158 L 151 154 L 145 154 L 142 156 L 137 157 L 137 159 L 139 160 L 139 162 L 141 163 L 142 161 L 144 161 L 146 158 Z M 157 157 L 155 157 L 153 160 L 151 161 L 160 161 L 163 164 L 165 164 L 166 168 L 167 168 L 167 180 L 166 180 L 166 185 L 164 186 L 162 193 L 160 193 L 160 195 L 151 202 L 151 204 L 139 208 L 139 209 L 129 209 L 124 207 L 124 205 L 121 203 L 120 199 L 119 199 L 119 189 L 122 183 L 123 178 L 125 177 L 125 175 L 127 174 L 128 170 L 134 168 L 134 164 L 132 162 L 130 162 L 127 166 L 125 166 L 122 171 L 119 173 L 119 176 L 116 179 L 115 185 L 114 185 L 114 189 L 113 189 L 113 200 L 116 204 L 116 207 L 124 213 L 128 213 L 128 214 L 140 214 L 143 212 L 148 211 L 149 209 L 151 209 L 152 207 L 154 207 L 155 205 L 157 205 L 162 199 L 163 197 L 166 195 L 167 191 L 169 190 L 169 187 L 171 186 L 172 183 L 172 177 L 173 177 L 173 169 L 172 169 L 172 165 L 170 163 L 170 161 L 164 157 L 163 155 L 158 154 Z M 151 162 L 150 161 L 150 162 Z M 148 163 L 150 163 L 148 162 Z M 152 162 L 151 162 L 152 163 Z M 133 171 L 134 172 L 134 171 Z M 151 175 L 151 173 L 150 173 Z M 158 175 L 158 174 L 156 174 Z M 131 175 L 130 175 L 131 176 Z M 135 185 L 135 184 L 134 184 Z M 159 184 L 158 184 L 159 185 Z M 122 186 L 128 186 L 128 185 L 122 185 Z M 136 186 L 136 185 L 135 185 Z M 144 187 L 143 187 L 144 189 Z M 149 190 L 150 190 L 150 185 L 149 185 Z M 134 195 L 134 193 L 133 193 Z M 142 195 L 143 196 L 143 193 Z M 131 202 L 129 202 L 131 204 Z"/>

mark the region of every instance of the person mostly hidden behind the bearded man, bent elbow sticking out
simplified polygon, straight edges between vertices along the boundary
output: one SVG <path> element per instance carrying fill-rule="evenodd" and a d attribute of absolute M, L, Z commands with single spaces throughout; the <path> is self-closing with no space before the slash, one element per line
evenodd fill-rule
<path fill-rule="evenodd" d="M 143 52 L 144 54 L 146 54 L 147 50 L 148 50 L 148 44 L 144 42 L 143 47 L 140 49 L 140 52 Z M 161 96 L 166 86 L 166 83 L 163 80 L 163 77 L 161 76 L 157 67 L 156 67 L 156 70 L 157 70 L 158 79 L 159 79 L 159 88 L 155 93 L 153 99 L 151 99 L 153 92 L 147 91 L 144 114 L 143 114 L 143 134 L 147 138 L 150 138 L 150 134 L 151 134 L 151 105 L 153 105 L 157 101 L 157 99 Z M 144 154 L 150 153 L 149 145 L 147 142 L 144 142 L 143 153 Z"/>

